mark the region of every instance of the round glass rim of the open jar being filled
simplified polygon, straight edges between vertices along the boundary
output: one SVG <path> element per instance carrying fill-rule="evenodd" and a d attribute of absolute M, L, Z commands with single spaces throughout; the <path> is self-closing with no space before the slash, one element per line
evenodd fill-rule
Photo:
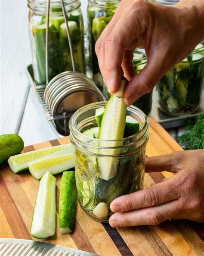
<path fill-rule="evenodd" d="M 102 107 L 102 106 L 105 106 L 106 104 L 107 104 L 107 101 L 94 102 L 94 103 L 91 103 L 89 105 L 83 106 L 82 108 L 78 109 L 74 113 L 74 115 L 72 115 L 71 118 L 70 118 L 70 121 L 69 121 L 70 131 L 74 131 L 74 133 L 76 134 L 76 137 L 78 137 L 78 138 L 80 136 L 81 138 L 84 138 L 84 139 L 88 139 L 88 138 L 90 139 L 90 137 L 81 133 L 77 129 L 77 127 L 74 125 L 74 123 L 76 122 L 76 119 L 80 114 L 87 111 L 87 108 L 90 109 L 90 108 L 94 108 L 96 106 Z M 137 108 L 136 106 L 133 106 L 133 105 L 127 106 L 127 110 L 129 110 L 130 112 L 133 112 L 136 115 L 138 115 L 140 113 L 142 115 L 142 118 L 144 119 L 144 125 L 142 126 L 142 128 L 136 134 L 133 134 L 133 135 L 131 135 L 129 137 L 126 137 L 126 138 L 117 139 L 117 140 L 101 140 L 101 139 L 96 139 L 96 138 L 91 138 L 91 139 L 93 141 L 105 141 L 105 142 L 125 142 L 125 141 L 128 141 L 128 140 L 131 139 L 132 141 L 138 142 L 141 138 L 143 138 L 142 136 L 148 131 L 148 128 L 149 128 L 148 119 L 147 119 L 145 113 L 141 109 L 139 109 L 139 108 Z"/>

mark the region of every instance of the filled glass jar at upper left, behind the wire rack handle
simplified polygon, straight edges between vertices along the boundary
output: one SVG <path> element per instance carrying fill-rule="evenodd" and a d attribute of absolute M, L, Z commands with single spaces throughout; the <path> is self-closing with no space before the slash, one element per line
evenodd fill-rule
<path fill-rule="evenodd" d="M 83 17 L 79 0 L 64 0 L 71 34 L 76 71 L 85 74 Z M 33 59 L 34 80 L 46 84 L 46 0 L 28 0 L 29 31 Z M 65 20 L 60 0 L 50 1 L 49 13 L 49 80 L 56 75 L 72 70 Z"/>

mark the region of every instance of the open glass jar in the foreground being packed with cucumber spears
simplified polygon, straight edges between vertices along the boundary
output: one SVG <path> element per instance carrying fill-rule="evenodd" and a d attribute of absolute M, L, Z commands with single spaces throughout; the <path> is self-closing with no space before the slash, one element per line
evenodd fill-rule
<path fill-rule="evenodd" d="M 74 113 L 69 122 L 78 202 L 91 217 L 102 222 L 108 222 L 112 214 L 110 204 L 115 198 L 144 188 L 145 148 L 149 137 L 148 120 L 134 106 L 127 107 L 127 115 L 139 121 L 138 133 L 117 141 L 102 141 L 82 134 L 97 127 L 96 109 L 106 104 L 97 102 L 84 106 Z M 110 173 L 99 168 L 99 160 L 112 161 L 114 167 Z"/>

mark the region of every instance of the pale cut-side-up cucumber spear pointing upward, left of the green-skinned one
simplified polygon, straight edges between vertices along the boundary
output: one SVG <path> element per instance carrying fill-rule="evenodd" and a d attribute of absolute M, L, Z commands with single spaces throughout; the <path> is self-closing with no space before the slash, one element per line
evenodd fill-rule
<path fill-rule="evenodd" d="M 35 201 L 31 236 L 47 238 L 55 234 L 56 229 L 56 178 L 46 172 L 40 180 Z"/>

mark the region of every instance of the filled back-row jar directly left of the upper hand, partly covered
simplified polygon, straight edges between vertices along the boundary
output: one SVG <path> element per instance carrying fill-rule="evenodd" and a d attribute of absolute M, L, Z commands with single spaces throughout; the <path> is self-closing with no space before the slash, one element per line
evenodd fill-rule
<path fill-rule="evenodd" d="M 97 86 L 102 87 L 103 79 L 99 69 L 99 63 L 95 52 L 95 43 L 103 29 L 113 17 L 120 0 L 88 0 L 88 41 L 90 54 L 90 70 Z"/>

